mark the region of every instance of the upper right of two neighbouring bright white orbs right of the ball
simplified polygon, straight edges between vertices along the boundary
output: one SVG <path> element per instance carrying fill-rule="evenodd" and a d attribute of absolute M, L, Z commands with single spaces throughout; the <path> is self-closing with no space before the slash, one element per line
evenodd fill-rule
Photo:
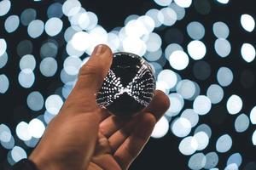
<path fill-rule="evenodd" d="M 188 52 L 192 59 L 198 60 L 205 57 L 207 54 L 206 45 L 198 40 L 189 42 Z"/>

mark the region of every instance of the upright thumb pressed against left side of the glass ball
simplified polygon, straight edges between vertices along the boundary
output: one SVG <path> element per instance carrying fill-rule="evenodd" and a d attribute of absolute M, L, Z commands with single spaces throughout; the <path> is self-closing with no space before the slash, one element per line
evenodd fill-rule
<path fill-rule="evenodd" d="M 80 68 L 78 81 L 67 100 L 78 105 L 95 103 L 96 94 L 108 75 L 112 59 L 112 51 L 107 45 L 97 45 L 90 59 Z"/>

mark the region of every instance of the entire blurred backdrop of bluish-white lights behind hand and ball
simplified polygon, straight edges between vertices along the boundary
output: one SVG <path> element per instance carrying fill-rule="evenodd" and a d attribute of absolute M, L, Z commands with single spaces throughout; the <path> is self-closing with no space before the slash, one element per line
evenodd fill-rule
<path fill-rule="evenodd" d="M 143 56 L 171 100 L 131 169 L 255 170 L 254 18 L 253 0 L 1 0 L 0 169 L 29 156 L 107 43 Z"/>

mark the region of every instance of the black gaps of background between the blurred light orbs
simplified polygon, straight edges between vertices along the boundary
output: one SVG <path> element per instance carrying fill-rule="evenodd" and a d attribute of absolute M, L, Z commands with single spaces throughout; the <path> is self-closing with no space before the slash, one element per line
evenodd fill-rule
<path fill-rule="evenodd" d="M 207 1 L 207 0 L 206 0 Z M 60 72 L 63 60 L 65 59 L 65 46 L 59 47 L 59 53 L 56 59 L 59 62 L 59 68 L 55 77 L 46 78 L 43 77 L 40 72 L 38 65 L 35 70 L 36 82 L 32 88 L 25 89 L 21 88 L 18 83 L 18 74 L 19 74 L 19 61 L 20 56 L 16 53 L 17 44 L 25 39 L 31 40 L 33 44 L 32 54 L 39 55 L 38 49 L 42 43 L 47 40 L 49 37 L 44 33 L 43 36 L 32 39 L 28 37 L 26 32 L 26 26 L 19 26 L 18 30 L 14 33 L 7 34 L 4 31 L 4 20 L 10 14 L 20 15 L 22 11 L 26 8 L 35 8 L 38 12 L 38 19 L 47 20 L 47 8 L 49 4 L 53 2 L 62 2 L 62 1 L 42 1 L 42 2 L 32 2 L 29 0 L 13 1 L 12 8 L 9 11 L 9 14 L 0 17 L 0 37 L 3 37 L 8 40 L 8 54 L 9 61 L 8 64 L 0 69 L 0 74 L 6 74 L 9 77 L 9 90 L 6 94 L 0 95 L 0 123 L 7 124 L 13 135 L 15 135 L 15 127 L 20 121 L 29 122 L 33 117 L 43 114 L 43 112 L 38 111 L 33 113 L 29 110 L 26 105 L 26 96 L 34 91 L 40 91 L 44 97 L 49 94 L 53 94 L 56 88 L 61 87 Z M 81 0 L 83 7 L 87 11 L 93 11 L 99 19 L 99 24 L 103 26 L 107 31 L 111 31 L 114 27 L 124 26 L 124 20 L 130 14 L 145 14 L 150 8 L 161 8 L 153 0 Z M 207 116 L 201 116 L 200 122 L 207 123 L 212 127 L 212 138 L 210 139 L 210 144 L 207 146 L 206 150 L 203 150 L 203 153 L 215 151 L 215 144 L 218 137 L 224 133 L 229 133 L 233 139 L 233 146 L 230 151 L 225 154 L 218 154 L 219 163 L 218 168 L 224 169 L 226 166 L 226 161 L 228 157 L 235 153 L 240 152 L 243 158 L 241 167 L 246 167 L 247 163 L 251 161 L 256 161 L 256 149 L 252 144 L 252 134 L 255 130 L 255 126 L 252 125 L 247 129 L 245 133 L 236 133 L 234 122 L 236 116 L 231 116 L 228 114 L 225 108 L 225 102 L 230 97 L 231 94 L 237 94 L 241 96 L 243 100 L 243 109 L 241 112 L 249 115 L 249 112 L 255 105 L 254 96 L 255 96 L 255 84 L 250 88 L 245 88 L 242 86 L 241 82 L 249 80 L 241 80 L 241 72 L 248 70 L 255 73 L 255 62 L 247 64 L 241 59 L 240 48 L 243 42 L 250 42 L 255 45 L 255 32 L 248 33 L 241 28 L 240 17 L 241 14 L 255 14 L 255 2 L 253 0 L 243 0 L 243 1 L 231 1 L 229 4 L 222 5 L 213 0 L 209 1 L 211 4 L 211 12 L 209 14 L 199 14 L 194 5 L 191 5 L 190 8 L 186 8 L 186 15 L 183 20 L 177 21 L 177 23 L 172 27 L 160 27 L 156 30 L 157 33 L 163 39 L 162 48 L 165 49 L 166 45 L 176 40 L 166 38 L 168 36 L 166 32 L 170 29 L 177 28 L 182 32 L 182 39 L 179 43 L 186 48 L 187 44 L 191 39 L 186 33 L 186 26 L 191 21 L 200 21 L 206 28 L 206 36 L 202 39 L 203 42 L 207 45 L 207 56 L 204 60 L 211 65 L 212 74 L 211 77 L 206 81 L 198 81 L 192 74 L 193 65 L 195 61 L 190 59 L 189 66 L 184 71 L 178 71 L 178 73 L 183 78 L 188 78 L 195 82 L 198 82 L 201 86 L 201 94 L 206 94 L 207 87 L 212 83 L 217 83 L 216 74 L 220 66 L 229 67 L 234 73 L 234 82 L 228 88 L 224 88 L 224 99 L 218 105 L 213 105 L 211 112 Z M 62 18 L 63 19 L 63 18 Z M 65 19 L 64 27 L 68 26 L 67 19 Z M 216 21 L 224 21 L 230 27 L 230 37 L 228 37 L 232 52 L 229 57 L 221 59 L 214 52 L 214 37 L 212 33 L 212 25 Z M 62 31 L 65 31 L 64 29 Z M 172 30 L 171 30 L 172 31 Z M 55 39 L 63 37 L 63 33 L 59 34 Z M 60 38 L 61 39 L 61 38 Z M 60 42 L 61 44 L 61 42 Z M 39 57 L 37 63 L 39 63 Z M 166 64 L 166 68 L 171 69 L 169 64 Z M 252 78 L 250 78 L 251 80 Z M 253 77 L 254 82 L 254 77 Z M 185 107 L 191 107 L 191 103 L 186 102 Z M 193 133 L 193 130 L 192 130 Z M 148 144 L 145 146 L 142 154 L 137 157 L 137 160 L 131 165 L 130 169 L 177 169 L 183 170 L 188 169 L 189 156 L 183 156 L 178 150 L 178 144 L 181 139 L 178 139 L 170 131 L 166 134 L 164 138 L 161 139 L 149 139 Z M 15 144 L 21 144 L 21 141 L 15 139 Z M 31 151 L 31 150 L 29 150 Z M 8 150 L 3 149 L 0 146 L 0 169 L 3 167 L 8 167 L 6 160 Z M 242 169 L 241 168 L 241 169 Z M 248 170 L 248 168 L 244 168 Z"/>

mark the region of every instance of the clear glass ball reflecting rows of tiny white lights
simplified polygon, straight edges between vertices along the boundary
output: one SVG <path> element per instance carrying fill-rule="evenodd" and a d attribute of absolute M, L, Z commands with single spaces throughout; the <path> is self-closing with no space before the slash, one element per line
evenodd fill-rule
<path fill-rule="evenodd" d="M 96 101 L 116 116 L 134 116 L 154 97 L 154 70 L 142 57 L 125 52 L 113 54 L 113 62 Z"/>

